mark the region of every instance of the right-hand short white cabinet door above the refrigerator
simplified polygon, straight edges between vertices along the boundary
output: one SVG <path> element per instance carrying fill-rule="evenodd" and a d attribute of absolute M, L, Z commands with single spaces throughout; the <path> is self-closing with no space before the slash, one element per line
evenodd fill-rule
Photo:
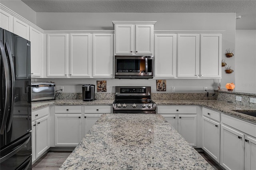
<path fill-rule="evenodd" d="M 25 38 L 26 40 L 30 40 L 29 25 L 15 17 L 13 22 L 13 33 Z"/>

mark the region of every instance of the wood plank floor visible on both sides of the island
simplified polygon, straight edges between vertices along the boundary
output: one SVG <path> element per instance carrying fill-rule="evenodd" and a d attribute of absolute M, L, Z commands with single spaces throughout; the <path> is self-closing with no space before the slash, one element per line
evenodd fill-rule
<path fill-rule="evenodd" d="M 32 165 L 32 170 L 58 170 L 72 151 L 49 151 Z M 202 150 L 198 152 L 215 170 L 223 170 Z"/>

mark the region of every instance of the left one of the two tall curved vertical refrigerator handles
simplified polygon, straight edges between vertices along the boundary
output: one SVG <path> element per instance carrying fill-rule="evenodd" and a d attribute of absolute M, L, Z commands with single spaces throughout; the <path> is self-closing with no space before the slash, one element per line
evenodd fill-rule
<path fill-rule="evenodd" d="M 3 106 L 3 118 L 1 122 L 1 129 L 0 129 L 0 134 L 4 134 L 4 130 L 6 127 L 6 122 L 8 118 L 8 111 L 10 110 L 10 100 L 8 100 L 8 97 L 10 97 L 10 72 L 9 72 L 9 67 L 8 67 L 8 60 L 6 57 L 6 53 L 4 51 L 4 44 L 2 41 L 0 41 L 0 50 L 2 54 L 2 63 L 4 67 L 4 74 L 5 74 L 5 99 L 4 99 L 4 106 Z"/>

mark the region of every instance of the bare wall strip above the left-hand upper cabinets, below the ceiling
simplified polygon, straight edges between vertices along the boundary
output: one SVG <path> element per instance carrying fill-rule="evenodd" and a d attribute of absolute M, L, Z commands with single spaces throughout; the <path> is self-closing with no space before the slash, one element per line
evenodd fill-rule
<path fill-rule="evenodd" d="M 26 18 L 26 20 L 36 24 L 36 12 L 21 0 L 0 0 L 0 3 Z"/>

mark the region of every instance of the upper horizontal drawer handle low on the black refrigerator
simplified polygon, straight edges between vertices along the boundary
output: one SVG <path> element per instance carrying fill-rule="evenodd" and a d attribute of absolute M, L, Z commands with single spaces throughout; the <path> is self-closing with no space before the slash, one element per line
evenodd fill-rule
<path fill-rule="evenodd" d="M 17 142 L 15 142 L 14 144 L 12 144 L 12 145 L 10 145 L 10 146 L 4 148 L 3 150 L 1 150 L 1 152 L 3 152 L 3 153 L 1 154 L 0 163 L 4 162 L 4 161 L 7 160 L 8 158 L 12 157 L 12 156 L 15 155 L 17 152 L 19 152 L 19 151 L 23 148 L 23 146 L 25 146 L 25 145 L 29 142 L 30 138 L 31 138 L 31 133 L 28 133 L 28 134 L 26 134 L 23 138 L 21 138 L 20 140 L 18 140 Z M 21 142 L 22 142 L 22 143 L 21 143 Z M 20 143 L 21 143 L 21 144 L 20 144 Z M 15 146 L 15 145 L 17 145 L 17 144 L 19 144 L 18 147 Z M 17 148 L 15 148 L 15 147 L 17 147 Z M 15 149 L 12 150 L 12 148 L 15 148 Z M 6 152 L 8 152 L 8 151 L 10 151 L 10 150 L 12 150 L 12 152 L 9 152 L 8 154 L 2 156 L 4 153 L 6 153 Z"/>

